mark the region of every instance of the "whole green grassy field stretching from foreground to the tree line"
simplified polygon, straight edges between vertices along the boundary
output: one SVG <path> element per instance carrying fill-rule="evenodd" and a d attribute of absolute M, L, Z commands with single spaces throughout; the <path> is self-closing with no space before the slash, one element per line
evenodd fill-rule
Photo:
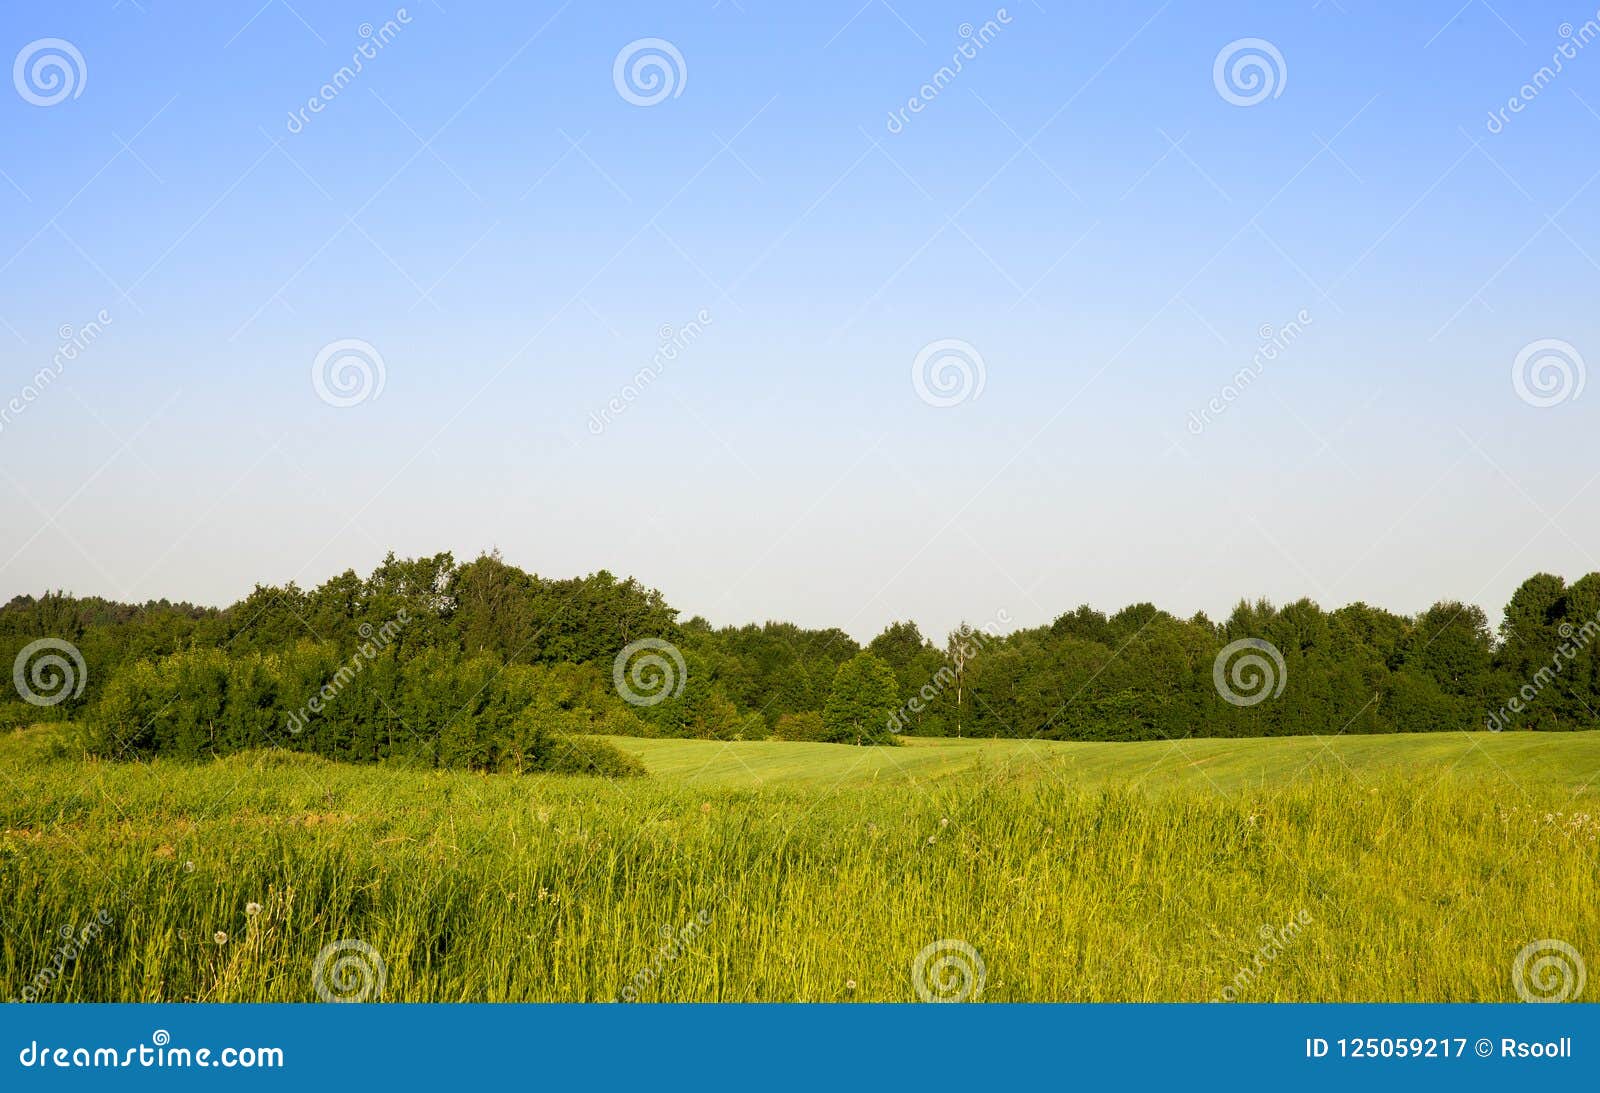
<path fill-rule="evenodd" d="M 339 941 L 406 1002 L 1515 1000 L 1533 941 L 1600 959 L 1600 733 L 616 743 L 651 776 L 0 738 L 3 997 L 315 1000 Z"/>

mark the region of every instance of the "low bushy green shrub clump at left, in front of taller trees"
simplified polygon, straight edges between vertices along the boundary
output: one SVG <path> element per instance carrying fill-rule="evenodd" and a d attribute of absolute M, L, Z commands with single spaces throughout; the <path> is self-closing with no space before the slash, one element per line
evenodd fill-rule
<path fill-rule="evenodd" d="M 200 759 L 258 747 L 347 762 L 528 773 L 624 770 L 605 741 L 632 712 L 590 664 L 504 666 L 480 655 L 390 650 L 339 659 L 325 643 L 282 653 L 190 650 L 120 671 L 85 715 L 88 751 Z M 624 771 L 626 773 L 626 771 Z"/>

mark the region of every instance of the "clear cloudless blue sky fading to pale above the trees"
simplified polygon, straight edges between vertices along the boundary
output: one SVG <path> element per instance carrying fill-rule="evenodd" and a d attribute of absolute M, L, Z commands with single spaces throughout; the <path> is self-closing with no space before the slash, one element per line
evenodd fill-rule
<path fill-rule="evenodd" d="M 858 637 L 1498 618 L 1600 568 L 1590 19 L 6 3 L 0 599 L 499 547 Z"/>

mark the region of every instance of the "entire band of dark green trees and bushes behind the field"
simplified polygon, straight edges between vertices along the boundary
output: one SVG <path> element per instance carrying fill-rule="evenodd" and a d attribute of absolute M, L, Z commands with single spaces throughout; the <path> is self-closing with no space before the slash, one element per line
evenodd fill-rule
<path fill-rule="evenodd" d="M 368 578 L 346 571 L 312 589 L 258 586 L 226 608 L 22 595 L 0 608 L 16 683 L 0 728 L 70 722 L 83 752 L 120 759 L 286 747 L 627 775 L 637 765 L 597 736 L 894 744 L 1600 727 L 1600 573 L 1528 578 L 1496 629 L 1459 602 L 1416 616 L 1240 602 L 1219 623 L 1134 603 L 941 640 L 894 623 L 862 647 L 838 629 L 678 615 L 603 570 L 552 579 L 498 554 L 458 563 L 448 552 L 390 554 Z M 51 643 L 82 664 L 35 658 Z M 1275 655 L 1258 658 L 1269 690 L 1246 699 L 1224 687 L 1221 658 L 1238 645 Z M 62 672 L 66 687 L 53 679 Z"/>

